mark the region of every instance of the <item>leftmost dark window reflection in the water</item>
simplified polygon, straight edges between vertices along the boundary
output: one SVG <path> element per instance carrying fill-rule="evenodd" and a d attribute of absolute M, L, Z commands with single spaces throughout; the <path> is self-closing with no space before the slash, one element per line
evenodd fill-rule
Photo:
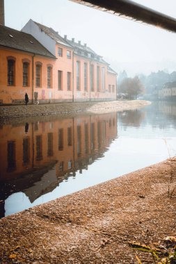
<path fill-rule="evenodd" d="M 8 141 L 8 172 L 16 170 L 16 147 L 15 141 Z"/>

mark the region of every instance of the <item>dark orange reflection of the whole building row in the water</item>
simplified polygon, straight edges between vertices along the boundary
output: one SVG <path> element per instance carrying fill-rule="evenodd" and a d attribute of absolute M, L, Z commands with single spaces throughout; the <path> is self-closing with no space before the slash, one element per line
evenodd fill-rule
<path fill-rule="evenodd" d="M 0 200 L 24 191 L 34 201 L 104 155 L 117 136 L 117 114 L 85 115 L 0 129 Z M 6 193 L 5 193 L 6 192 Z"/>

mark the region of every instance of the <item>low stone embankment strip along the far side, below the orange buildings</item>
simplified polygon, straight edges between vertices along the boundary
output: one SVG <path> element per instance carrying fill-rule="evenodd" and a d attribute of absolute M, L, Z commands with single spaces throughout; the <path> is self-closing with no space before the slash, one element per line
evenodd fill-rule
<path fill-rule="evenodd" d="M 78 113 L 90 111 L 102 113 L 102 110 L 113 111 L 129 109 L 138 106 L 150 104 L 149 101 L 133 100 L 133 101 L 104 101 L 104 102 L 84 102 L 84 103 L 62 103 L 62 104 L 39 104 L 28 106 L 1 106 L 0 119 L 9 119 L 16 117 L 30 117 L 42 115 L 56 115 L 63 113 Z"/>

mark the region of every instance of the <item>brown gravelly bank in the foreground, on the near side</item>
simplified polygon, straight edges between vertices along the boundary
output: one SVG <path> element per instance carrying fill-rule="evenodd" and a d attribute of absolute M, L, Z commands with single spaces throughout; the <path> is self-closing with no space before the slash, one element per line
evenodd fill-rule
<path fill-rule="evenodd" d="M 176 230 L 176 159 L 0 220 L 1 263 L 152 263 L 129 242 Z M 172 173 L 171 173 L 172 172 Z"/>

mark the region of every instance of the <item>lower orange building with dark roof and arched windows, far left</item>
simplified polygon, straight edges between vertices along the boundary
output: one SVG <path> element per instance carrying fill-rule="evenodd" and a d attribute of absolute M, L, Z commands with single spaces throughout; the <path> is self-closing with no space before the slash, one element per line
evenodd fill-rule
<path fill-rule="evenodd" d="M 38 87 L 46 88 L 43 96 L 49 97 L 55 61 L 33 36 L 0 26 L 0 103 L 24 104 L 25 93 L 31 102 Z"/>

